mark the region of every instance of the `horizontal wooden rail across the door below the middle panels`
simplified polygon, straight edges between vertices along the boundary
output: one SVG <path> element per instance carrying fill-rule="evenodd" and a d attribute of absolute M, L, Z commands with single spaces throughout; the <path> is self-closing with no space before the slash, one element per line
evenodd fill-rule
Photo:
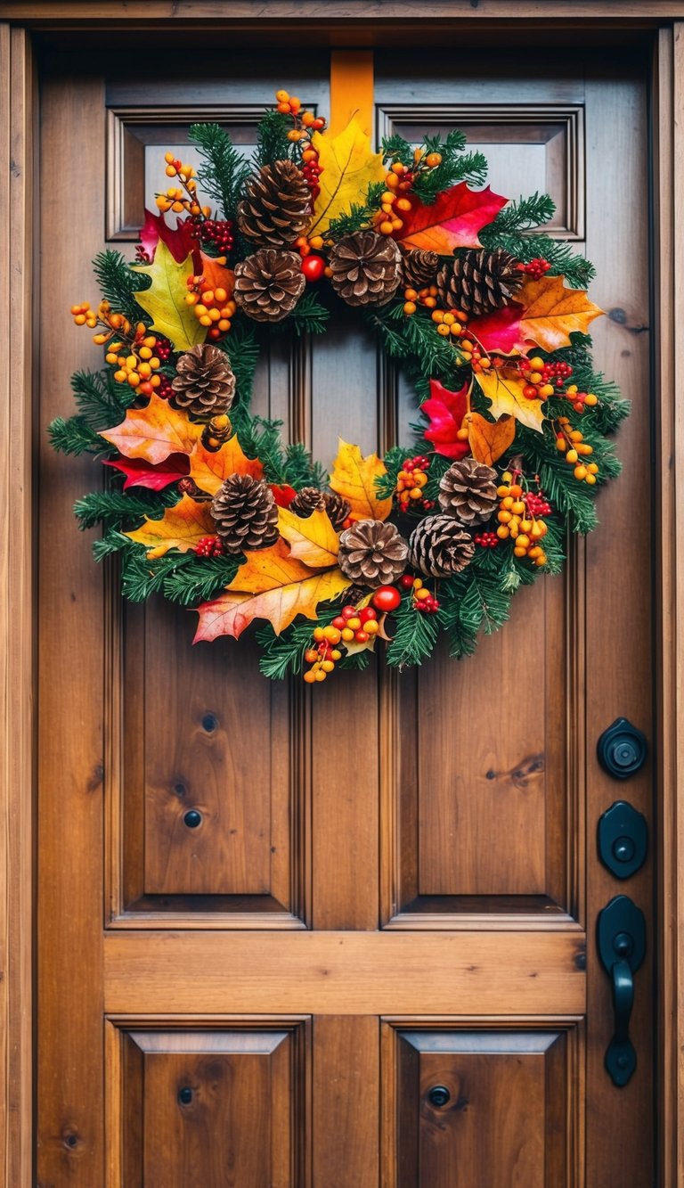
<path fill-rule="evenodd" d="M 108 1012 L 387 1015 L 581 1011 L 582 940 L 568 934 L 112 933 Z M 188 979 L 184 971 L 192 969 Z"/>

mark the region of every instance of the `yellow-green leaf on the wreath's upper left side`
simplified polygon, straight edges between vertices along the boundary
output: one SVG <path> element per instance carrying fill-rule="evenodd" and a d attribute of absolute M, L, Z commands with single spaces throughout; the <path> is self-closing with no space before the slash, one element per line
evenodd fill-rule
<path fill-rule="evenodd" d="M 185 303 L 188 277 L 192 274 L 192 257 L 178 264 L 162 240 L 157 244 L 152 264 L 138 264 L 134 272 L 152 277 L 150 289 L 135 293 L 135 301 L 153 318 L 152 329 L 164 334 L 176 350 L 190 350 L 207 337 L 191 305 Z"/>

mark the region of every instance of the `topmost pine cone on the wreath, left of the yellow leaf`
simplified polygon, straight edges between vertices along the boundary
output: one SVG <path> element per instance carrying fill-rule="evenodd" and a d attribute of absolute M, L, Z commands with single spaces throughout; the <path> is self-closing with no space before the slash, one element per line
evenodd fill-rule
<path fill-rule="evenodd" d="M 255 247 L 287 247 L 306 230 L 310 217 L 311 190 L 291 160 L 264 165 L 238 206 L 238 226 Z"/>

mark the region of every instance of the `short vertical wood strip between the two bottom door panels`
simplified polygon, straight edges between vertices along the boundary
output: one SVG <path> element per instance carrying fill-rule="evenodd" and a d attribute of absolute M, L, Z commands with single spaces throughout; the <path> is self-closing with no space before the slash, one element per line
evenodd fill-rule
<path fill-rule="evenodd" d="M 314 1184 L 378 1188 L 380 1030 L 374 1016 L 314 1019 Z"/>

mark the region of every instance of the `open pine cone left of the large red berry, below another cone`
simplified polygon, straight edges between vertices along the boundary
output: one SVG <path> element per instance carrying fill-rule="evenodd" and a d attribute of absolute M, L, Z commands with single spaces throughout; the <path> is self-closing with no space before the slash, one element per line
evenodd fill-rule
<path fill-rule="evenodd" d="M 294 309 L 305 284 L 297 253 L 264 247 L 235 265 L 233 296 L 255 322 L 281 322 Z"/>

